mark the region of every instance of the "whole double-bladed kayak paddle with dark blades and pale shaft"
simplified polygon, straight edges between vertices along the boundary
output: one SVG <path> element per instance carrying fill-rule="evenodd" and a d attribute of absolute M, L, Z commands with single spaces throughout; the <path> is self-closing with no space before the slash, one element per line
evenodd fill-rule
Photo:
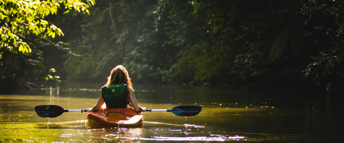
<path fill-rule="evenodd" d="M 179 105 L 172 109 L 147 109 L 147 112 L 172 112 L 177 116 L 190 117 L 196 116 L 202 110 L 200 105 Z M 58 105 L 39 105 L 35 107 L 38 116 L 43 118 L 55 118 L 63 114 L 63 112 L 86 112 L 83 109 L 68 110 Z"/>

